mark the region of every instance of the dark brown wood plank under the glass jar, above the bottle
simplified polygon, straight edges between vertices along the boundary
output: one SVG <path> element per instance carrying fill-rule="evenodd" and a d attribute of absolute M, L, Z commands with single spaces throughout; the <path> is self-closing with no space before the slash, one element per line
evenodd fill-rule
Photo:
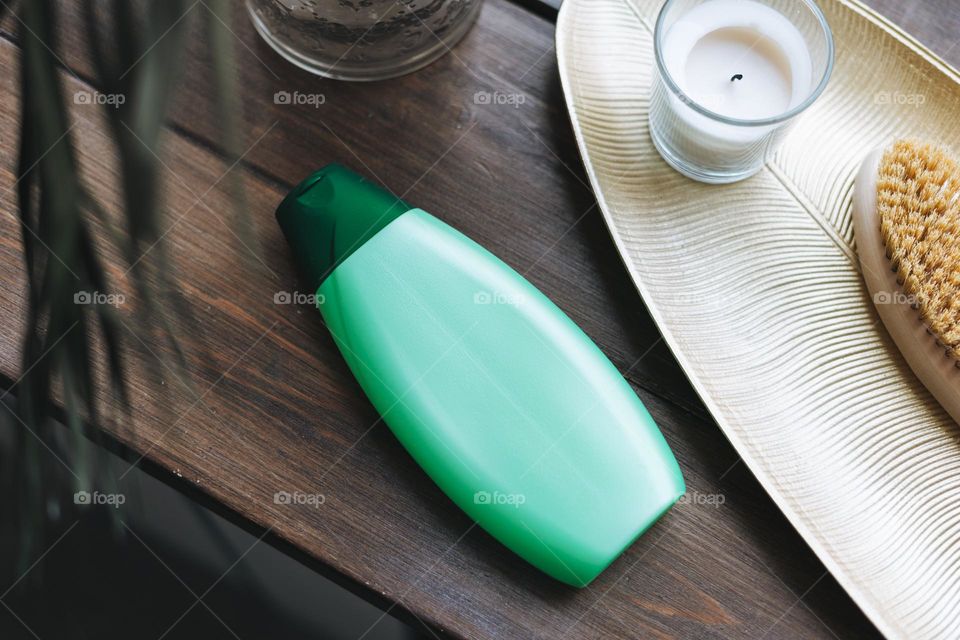
<path fill-rule="evenodd" d="M 80 4 L 62 5 L 64 61 L 89 78 Z M 196 37 L 171 122 L 216 146 L 214 85 L 200 30 L 207 9 L 198 4 L 194 12 Z M 245 162 L 283 188 L 328 162 L 379 179 L 550 292 L 632 381 L 707 417 L 597 215 L 563 106 L 552 27 L 503 0 L 485 4 L 480 24 L 486 26 L 471 31 L 453 55 L 417 74 L 343 83 L 281 59 L 238 11 L 237 106 L 252 145 Z M 8 21 L 8 33 L 12 26 Z M 278 91 L 320 94 L 325 102 L 278 105 Z M 479 91 L 521 96 L 523 103 L 476 104 Z"/>

